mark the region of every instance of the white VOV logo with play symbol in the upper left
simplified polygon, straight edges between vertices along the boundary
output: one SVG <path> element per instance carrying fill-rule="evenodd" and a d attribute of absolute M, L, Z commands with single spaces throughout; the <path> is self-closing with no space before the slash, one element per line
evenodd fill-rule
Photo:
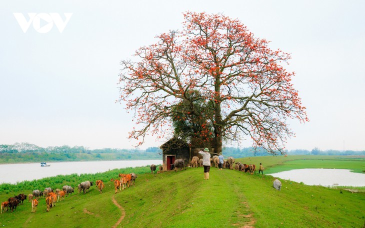
<path fill-rule="evenodd" d="M 28 12 L 29 20 L 27 20 L 21 12 L 13 12 L 12 14 L 14 14 L 15 19 L 24 33 L 28 30 L 31 23 L 33 24 L 33 28 L 39 33 L 47 33 L 52 29 L 54 23 L 58 28 L 58 31 L 62 33 L 64 27 L 72 16 L 71 12 L 65 12 L 63 13 L 65 20 L 63 20 L 57 12 Z"/>

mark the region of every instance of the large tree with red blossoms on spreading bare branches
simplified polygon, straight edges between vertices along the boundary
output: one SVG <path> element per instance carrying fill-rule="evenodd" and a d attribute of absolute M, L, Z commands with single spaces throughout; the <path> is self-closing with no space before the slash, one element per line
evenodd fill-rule
<path fill-rule="evenodd" d="M 248 135 L 254 147 L 283 153 L 293 135 L 287 118 L 307 121 L 290 83 L 294 73 L 283 66 L 289 54 L 271 50 L 237 19 L 204 12 L 184 18 L 181 31 L 160 34 L 156 43 L 136 50 L 136 61 L 121 61 L 120 102 L 138 123 L 129 137 L 140 144 L 148 131 L 164 137 L 179 113 L 209 121 L 215 152 L 222 140 Z"/>

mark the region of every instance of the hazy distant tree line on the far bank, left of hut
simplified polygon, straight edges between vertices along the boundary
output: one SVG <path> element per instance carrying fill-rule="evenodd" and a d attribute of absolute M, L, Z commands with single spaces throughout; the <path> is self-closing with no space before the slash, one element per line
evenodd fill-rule
<path fill-rule="evenodd" d="M 158 147 L 147 149 L 89 149 L 83 146 L 48 146 L 28 143 L 0 144 L 0 163 L 82 161 L 82 160 L 149 160 L 161 159 Z"/>

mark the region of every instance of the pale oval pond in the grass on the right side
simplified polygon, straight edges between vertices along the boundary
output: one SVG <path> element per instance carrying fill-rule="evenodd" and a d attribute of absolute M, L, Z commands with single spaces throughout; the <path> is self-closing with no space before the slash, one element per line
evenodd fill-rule
<path fill-rule="evenodd" d="M 365 186 L 365 173 L 349 169 L 303 168 L 270 173 L 274 177 L 321 186 Z"/>

